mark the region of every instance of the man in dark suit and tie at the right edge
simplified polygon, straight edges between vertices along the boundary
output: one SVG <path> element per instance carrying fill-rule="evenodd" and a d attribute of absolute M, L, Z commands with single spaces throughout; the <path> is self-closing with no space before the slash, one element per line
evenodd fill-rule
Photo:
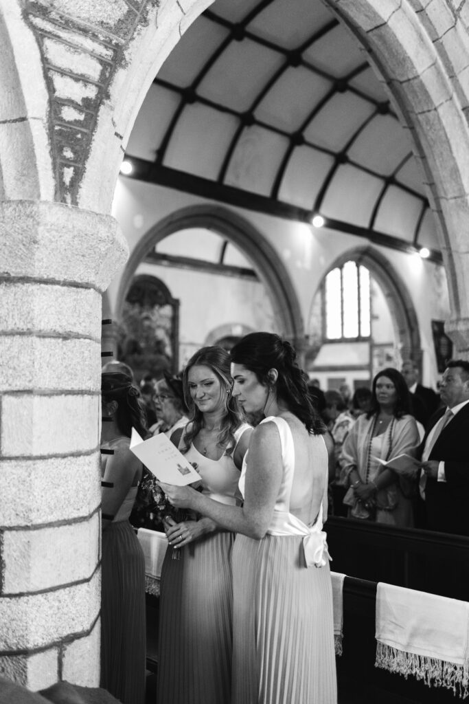
<path fill-rule="evenodd" d="M 469 362 L 448 363 L 440 393 L 446 408 L 432 416 L 420 445 L 420 493 L 428 529 L 469 536 Z"/>

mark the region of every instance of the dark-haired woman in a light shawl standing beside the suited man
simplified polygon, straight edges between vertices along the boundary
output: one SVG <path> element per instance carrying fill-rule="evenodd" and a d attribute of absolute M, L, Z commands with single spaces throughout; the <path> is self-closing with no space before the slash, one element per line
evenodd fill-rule
<path fill-rule="evenodd" d="M 379 461 L 416 451 L 419 436 L 409 414 L 409 391 L 404 377 L 387 367 L 373 379 L 372 394 L 370 410 L 359 416 L 342 447 L 340 461 L 349 485 L 344 503 L 349 517 L 412 527 L 416 467 L 409 463 L 397 473 Z"/>

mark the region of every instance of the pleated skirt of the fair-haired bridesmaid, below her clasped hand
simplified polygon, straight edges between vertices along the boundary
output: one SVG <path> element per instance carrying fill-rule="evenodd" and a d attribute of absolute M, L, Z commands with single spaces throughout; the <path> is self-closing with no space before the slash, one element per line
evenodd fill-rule
<path fill-rule="evenodd" d="M 232 533 L 167 550 L 160 591 L 158 704 L 229 704 Z"/>

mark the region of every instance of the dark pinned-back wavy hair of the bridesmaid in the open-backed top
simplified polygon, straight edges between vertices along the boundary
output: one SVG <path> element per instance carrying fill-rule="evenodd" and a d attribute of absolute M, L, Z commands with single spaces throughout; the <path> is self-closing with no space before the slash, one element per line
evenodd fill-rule
<path fill-rule="evenodd" d="M 290 342 L 272 332 L 251 332 L 231 349 L 231 361 L 254 372 L 263 386 L 270 386 L 269 370 L 276 369 L 277 398 L 315 435 L 326 432 L 321 417 L 311 403 L 304 374 L 297 365 Z"/>

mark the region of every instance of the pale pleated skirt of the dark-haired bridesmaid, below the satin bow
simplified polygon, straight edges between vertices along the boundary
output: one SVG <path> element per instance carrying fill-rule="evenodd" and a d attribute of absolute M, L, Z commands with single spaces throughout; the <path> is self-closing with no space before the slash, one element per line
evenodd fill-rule
<path fill-rule="evenodd" d="M 304 567 L 301 536 L 233 548 L 232 704 L 336 704 L 329 566 Z"/>

